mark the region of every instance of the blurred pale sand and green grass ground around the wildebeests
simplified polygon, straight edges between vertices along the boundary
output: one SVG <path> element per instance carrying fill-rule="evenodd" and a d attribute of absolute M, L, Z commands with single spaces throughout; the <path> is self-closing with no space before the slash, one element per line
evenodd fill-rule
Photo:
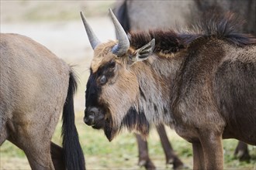
<path fill-rule="evenodd" d="M 67 63 L 74 66 L 79 77 L 78 93 L 74 100 L 76 125 L 85 153 L 87 169 L 144 169 L 137 165 L 137 141 L 133 134 L 123 131 L 109 142 L 103 131 L 96 131 L 83 122 L 85 110 L 85 84 L 93 51 L 88 42 L 79 12 L 84 12 L 99 39 L 115 39 L 108 8 L 116 1 L 7 1 L 1 0 L 2 33 L 12 32 L 40 42 Z M 192 168 L 192 145 L 175 131 L 165 128 L 171 145 L 182 162 Z M 61 145 L 61 120 L 53 141 Z M 256 169 L 256 148 L 249 146 L 251 162 L 239 162 L 234 157 L 236 140 L 224 140 L 225 169 Z M 152 129 L 148 138 L 151 160 L 157 169 L 170 169 L 165 165 L 164 151 L 157 132 Z M 30 169 L 24 153 L 9 141 L 0 148 L 0 169 Z"/>

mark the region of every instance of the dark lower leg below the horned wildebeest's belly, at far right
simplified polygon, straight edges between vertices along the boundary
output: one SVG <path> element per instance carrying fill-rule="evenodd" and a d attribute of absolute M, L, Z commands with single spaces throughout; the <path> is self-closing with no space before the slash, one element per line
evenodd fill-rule
<path fill-rule="evenodd" d="M 251 158 L 247 144 L 245 144 L 243 141 L 238 142 L 237 148 L 234 151 L 234 155 L 237 156 L 240 161 L 249 161 Z"/>

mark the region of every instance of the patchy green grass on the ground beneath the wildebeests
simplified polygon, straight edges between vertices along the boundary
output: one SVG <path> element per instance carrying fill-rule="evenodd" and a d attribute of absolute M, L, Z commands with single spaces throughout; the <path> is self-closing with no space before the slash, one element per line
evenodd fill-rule
<path fill-rule="evenodd" d="M 137 141 L 133 134 L 123 131 L 113 141 L 109 142 L 103 131 L 94 130 L 82 121 L 83 113 L 76 115 L 76 125 L 82 149 L 85 153 L 85 160 L 88 169 L 144 169 L 137 165 Z M 180 138 L 175 131 L 166 128 L 171 145 L 177 155 L 192 168 L 192 145 Z M 53 141 L 61 144 L 61 122 L 57 124 Z M 157 166 L 157 169 L 170 169 L 171 165 L 165 165 L 164 151 L 155 130 L 152 130 L 148 138 L 150 158 Z M 234 158 L 234 149 L 237 140 L 229 139 L 223 141 L 225 169 L 255 169 L 256 148 L 249 146 L 251 162 L 239 162 Z M 0 169 L 27 169 L 26 156 L 19 148 L 9 141 L 0 148 Z M 19 164 L 19 162 L 21 162 Z M 25 162 L 25 163 L 24 163 Z M 25 168 L 24 168 L 25 167 Z"/>

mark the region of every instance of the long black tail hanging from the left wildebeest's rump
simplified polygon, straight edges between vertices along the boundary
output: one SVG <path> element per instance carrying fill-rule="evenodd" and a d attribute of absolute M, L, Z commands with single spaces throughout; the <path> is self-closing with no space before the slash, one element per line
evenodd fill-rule
<path fill-rule="evenodd" d="M 81 145 L 79 143 L 78 131 L 74 124 L 74 93 L 77 89 L 77 83 L 74 73 L 70 72 L 67 98 L 64 104 L 62 114 L 62 133 L 64 160 L 67 170 L 85 169 L 85 158 Z"/>

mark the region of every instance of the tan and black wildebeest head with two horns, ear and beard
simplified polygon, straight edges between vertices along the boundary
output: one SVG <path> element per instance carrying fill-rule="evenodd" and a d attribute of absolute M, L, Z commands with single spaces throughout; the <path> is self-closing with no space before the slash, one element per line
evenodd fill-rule
<path fill-rule="evenodd" d="M 122 127 L 146 135 L 149 131 L 149 122 L 138 104 L 144 92 L 140 89 L 137 76 L 143 74 L 140 73 L 141 69 L 150 70 L 145 66 L 140 68 L 137 63 L 147 59 L 153 52 L 154 39 L 134 49 L 111 9 L 109 12 L 118 41 L 100 42 L 82 13 L 81 18 L 94 49 L 85 94 L 85 123 L 92 128 L 104 129 L 106 137 L 111 141 Z M 140 76 L 146 78 L 146 75 Z"/>

